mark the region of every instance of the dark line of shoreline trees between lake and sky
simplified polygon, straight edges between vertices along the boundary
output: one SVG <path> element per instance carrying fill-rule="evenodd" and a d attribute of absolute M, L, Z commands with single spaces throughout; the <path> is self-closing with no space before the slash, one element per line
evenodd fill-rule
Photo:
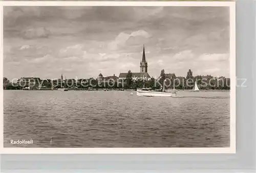
<path fill-rule="evenodd" d="M 35 86 L 40 85 L 45 88 L 80 88 L 80 89 L 137 89 L 137 88 L 152 88 L 152 90 L 160 89 L 165 84 L 165 89 L 177 90 L 191 90 L 194 88 L 195 82 L 200 90 L 230 90 L 230 79 L 222 77 L 221 79 L 207 76 L 193 76 L 193 72 L 189 69 L 186 77 L 169 77 L 165 74 L 164 69 L 161 70 L 160 76 L 155 78 L 146 79 L 134 79 L 131 70 L 128 71 L 125 79 L 117 80 L 98 80 L 94 78 L 90 79 L 55 79 L 55 80 L 40 80 L 35 82 Z M 26 84 L 26 83 L 25 83 Z M 3 79 L 3 87 L 5 90 L 19 90 L 22 82 L 14 83 L 10 82 L 6 77 Z M 22 85 L 22 87 L 28 87 L 28 85 Z"/>

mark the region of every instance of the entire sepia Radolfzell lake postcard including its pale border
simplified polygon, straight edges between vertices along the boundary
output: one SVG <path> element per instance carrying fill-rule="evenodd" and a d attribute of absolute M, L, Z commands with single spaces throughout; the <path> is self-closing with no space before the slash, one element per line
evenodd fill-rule
<path fill-rule="evenodd" d="M 3 149 L 235 152 L 234 2 L 47 3 L 3 6 Z"/>

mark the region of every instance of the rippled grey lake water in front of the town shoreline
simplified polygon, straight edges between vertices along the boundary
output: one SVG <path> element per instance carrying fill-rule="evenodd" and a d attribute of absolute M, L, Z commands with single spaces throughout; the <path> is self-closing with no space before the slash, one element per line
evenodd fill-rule
<path fill-rule="evenodd" d="M 229 147 L 229 92 L 130 93 L 6 90 L 4 147 Z"/>

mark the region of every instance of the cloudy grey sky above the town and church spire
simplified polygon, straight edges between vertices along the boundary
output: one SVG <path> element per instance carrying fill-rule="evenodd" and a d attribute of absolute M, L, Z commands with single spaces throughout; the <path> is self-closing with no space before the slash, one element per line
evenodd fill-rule
<path fill-rule="evenodd" d="M 228 7 L 4 7 L 4 76 L 229 77 Z"/>

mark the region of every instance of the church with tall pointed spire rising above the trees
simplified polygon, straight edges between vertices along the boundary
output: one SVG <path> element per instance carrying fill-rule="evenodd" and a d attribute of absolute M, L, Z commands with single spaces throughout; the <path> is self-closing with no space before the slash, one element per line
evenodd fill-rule
<path fill-rule="evenodd" d="M 119 79 L 125 79 L 128 73 L 120 73 Z M 134 80 L 150 80 L 151 77 L 147 73 L 147 61 L 145 56 L 145 46 L 143 45 L 143 53 L 142 53 L 142 60 L 140 61 L 140 72 L 134 73 L 132 72 L 132 78 Z"/>

